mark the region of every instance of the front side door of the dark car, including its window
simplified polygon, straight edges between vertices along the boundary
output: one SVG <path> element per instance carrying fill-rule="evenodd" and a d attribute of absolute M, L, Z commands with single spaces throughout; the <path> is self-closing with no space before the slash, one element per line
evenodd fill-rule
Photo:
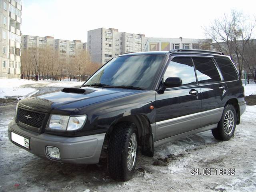
<path fill-rule="evenodd" d="M 156 92 L 156 140 L 199 128 L 201 90 L 190 57 L 175 57 L 168 62 L 163 82 L 179 77 L 182 86 Z"/>

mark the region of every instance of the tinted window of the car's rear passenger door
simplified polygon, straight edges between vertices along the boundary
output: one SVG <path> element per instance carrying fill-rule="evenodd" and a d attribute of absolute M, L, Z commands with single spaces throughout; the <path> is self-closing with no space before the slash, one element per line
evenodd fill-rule
<path fill-rule="evenodd" d="M 193 58 L 198 83 L 220 81 L 218 70 L 212 58 Z"/>

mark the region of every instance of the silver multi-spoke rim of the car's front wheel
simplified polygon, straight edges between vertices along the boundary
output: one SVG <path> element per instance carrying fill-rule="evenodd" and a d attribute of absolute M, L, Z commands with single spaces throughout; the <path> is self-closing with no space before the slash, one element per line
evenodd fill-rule
<path fill-rule="evenodd" d="M 136 133 L 133 133 L 130 138 L 130 142 L 128 146 L 128 156 L 127 156 L 128 171 L 131 171 L 134 166 L 135 159 L 136 159 L 136 152 L 137 152 L 137 136 L 136 136 Z"/>

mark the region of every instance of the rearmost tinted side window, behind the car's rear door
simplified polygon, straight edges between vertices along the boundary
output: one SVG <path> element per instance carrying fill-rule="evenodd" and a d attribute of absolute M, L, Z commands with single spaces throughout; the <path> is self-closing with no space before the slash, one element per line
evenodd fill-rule
<path fill-rule="evenodd" d="M 222 76 L 225 81 L 238 80 L 238 76 L 234 68 L 234 65 L 228 58 L 214 58 L 214 59 L 218 63 L 220 72 L 222 73 Z"/>

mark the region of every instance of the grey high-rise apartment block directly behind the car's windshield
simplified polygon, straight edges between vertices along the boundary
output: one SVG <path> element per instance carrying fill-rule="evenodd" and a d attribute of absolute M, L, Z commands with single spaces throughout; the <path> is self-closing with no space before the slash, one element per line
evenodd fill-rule
<path fill-rule="evenodd" d="M 144 34 L 119 32 L 114 28 L 98 28 L 88 31 L 87 43 L 92 61 L 104 64 L 120 54 L 141 52 L 146 38 Z"/>

